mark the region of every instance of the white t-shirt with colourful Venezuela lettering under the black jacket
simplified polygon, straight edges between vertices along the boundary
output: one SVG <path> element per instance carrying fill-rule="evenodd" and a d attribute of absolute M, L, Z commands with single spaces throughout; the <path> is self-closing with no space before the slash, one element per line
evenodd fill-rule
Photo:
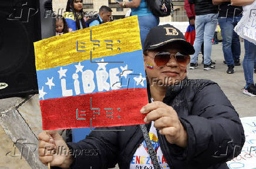
<path fill-rule="evenodd" d="M 170 168 L 169 165 L 167 164 L 166 158 L 164 158 L 163 153 L 161 151 L 159 139 L 157 137 L 156 127 L 154 127 L 154 121 L 151 122 L 149 137 L 154 147 L 154 150 L 156 151 L 156 156 L 159 161 L 160 167 Z M 153 163 L 151 163 L 149 153 L 147 153 L 146 142 L 143 141 L 133 155 L 133 159 L 130 163 L 130 169 L 153 169 L 153 168 L 154 168 Z"/>

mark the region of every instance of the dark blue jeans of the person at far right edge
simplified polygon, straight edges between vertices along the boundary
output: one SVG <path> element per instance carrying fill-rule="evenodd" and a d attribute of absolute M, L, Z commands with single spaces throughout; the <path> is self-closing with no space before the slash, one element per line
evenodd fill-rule
<path fill-rule="evenodd" d="M 249 42 L 244 39 L 244 62 L 242 66 L 244 67 L 244 77 L 245 77 L 245 88 L 247 88 L 250 84 L 254 84 L 253 81 L 253 73 L 254 73 L 254 62 L 256 58 L 256 45 L 254 43 Z"/>

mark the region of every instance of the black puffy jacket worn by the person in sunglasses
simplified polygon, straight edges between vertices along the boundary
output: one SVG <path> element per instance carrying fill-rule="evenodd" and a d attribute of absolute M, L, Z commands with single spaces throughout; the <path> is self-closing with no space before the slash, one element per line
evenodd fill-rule
<path fill-rule="evenodd" d="M 170 87 L 163 102 L 177 111 L 187 131 L 188 145 L 183 149 L 170 144 L 157 131 L 167 163 L 174 169 L 228 168 L 225 162 L 241 153 L 245 141 L 237 112 L 217 83 L 185 79 L 182 84 L 178 90 Z M 149 130 L 150 124 L 146 126 Z M 119 168 L 129 168 L 143 141 L 139 125 L 96 129 L 125 131 L 92 131 L 85 140 L 68 143 L 73 150 L 97 151 L 77 155 L 71 168 L 112 168 L 117 163 Z"/>

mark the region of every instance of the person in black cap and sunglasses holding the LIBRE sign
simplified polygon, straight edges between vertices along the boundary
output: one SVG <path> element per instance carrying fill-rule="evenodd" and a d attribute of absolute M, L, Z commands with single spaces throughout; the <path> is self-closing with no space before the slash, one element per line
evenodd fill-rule
<path fill-rule="evenodd" d="M 92 131 L 79 143 L 65 143 L 54 130 L 42 132 L 39 160 L 57 166 L 52 168 L 228 168 L 225 162 L 241 153 L 244 130 L 217 83 L 187 78 L 193 53 L 177 28 L 152 28 L 143 49 L 149 104 L 138 112 L 147 114 L 146 130 L 99 127 L 113 131 Z M 75 153 L 53 156 L 46 147 Z"/>

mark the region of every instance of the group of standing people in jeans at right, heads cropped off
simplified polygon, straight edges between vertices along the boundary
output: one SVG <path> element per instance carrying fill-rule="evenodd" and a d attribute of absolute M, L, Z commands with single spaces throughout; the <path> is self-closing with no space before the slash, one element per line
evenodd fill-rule
<path fill-rule="evenodd" d="M 197 59 L 200 51 L 204 55 L 204 70 L 215 69 L 214 63 L 211 61 L 211 42 L 214 38 L 217 24 L 220 25 L 223 38 L 223 63 L 227 64 L 227 73 L 233 74 L 234 67 L 241 65 L 240 37 L 234 31 L 234 28 L 241 20 L 244 10 L 254 1 L 244 1 L 244 3 L 237 1 L 185 0 L 184 8 L 187 11 L 189 22 L 194 25 L 196 30 L 196 39 L 194 40 L 196 52 L 191 55 L 190 69 L 196 69 L 198 66 Z M 234 4 L 240 6 L 235 6 Z M 203 49 L 201 49 L 202 43 L 204 44 Z M 244 46 L 245 56 L 242 66 L 245 87 L 243 93 L 248 96 L 256 96 L 256 87 L 253 80 L 253 73 L 256 73 L 256 45 L 244 39 Z"/>

